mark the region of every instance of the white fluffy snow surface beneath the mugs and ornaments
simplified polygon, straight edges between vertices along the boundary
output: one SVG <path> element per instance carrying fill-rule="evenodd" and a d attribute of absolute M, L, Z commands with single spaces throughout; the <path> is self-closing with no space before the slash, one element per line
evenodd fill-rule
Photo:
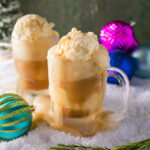
<path fill-rule="evenodd" d="M 11 91 L 15 85 L 13 59 L 0 62 L 0 93 Z M 51 129 L 46 123 L 18 139 L 0 142 L 0 150 L 48 150 L 58 143 L 84 144 L 112 148 L 150 138 L 150 79 L 133 78 L 130 82 L 129 111 L 123 122 L 114 130 L 99 132 L 92 137 L 79 137 Z M 105 103 L 119 107 L 120 88 L 107 85 Z M 109 105 L 107 103 L 109 101 Z M 31 101 L 29 101 L 31 103 Z"/>

